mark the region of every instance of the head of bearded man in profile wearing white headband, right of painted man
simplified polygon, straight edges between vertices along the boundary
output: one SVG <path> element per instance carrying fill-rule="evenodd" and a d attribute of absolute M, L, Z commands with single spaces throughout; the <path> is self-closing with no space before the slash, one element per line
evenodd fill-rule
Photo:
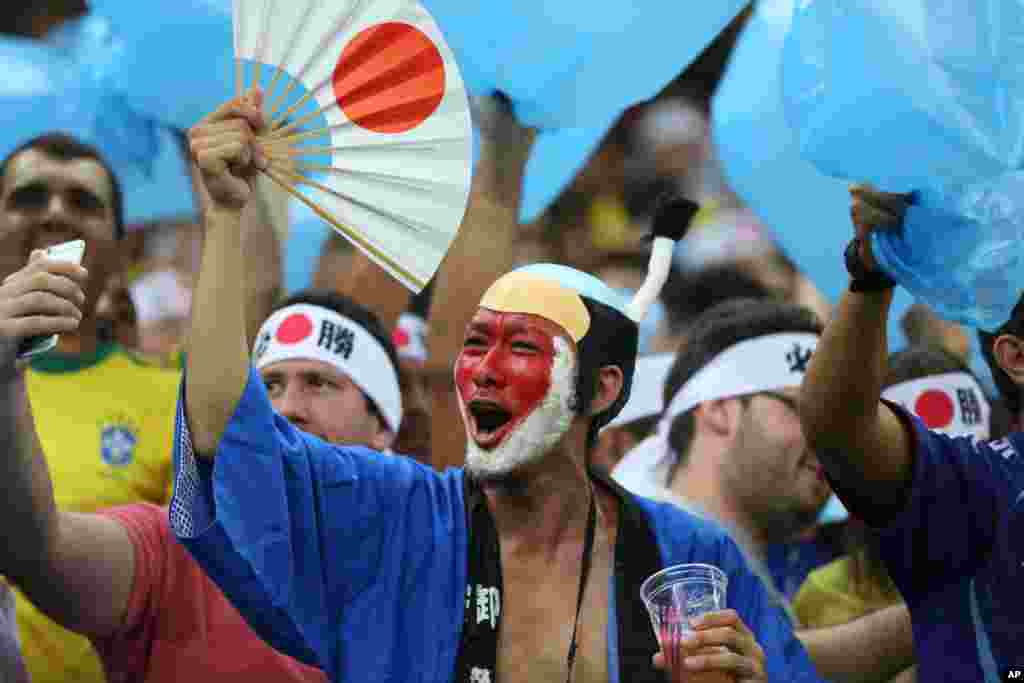
<path fill-rule="evenodd" d="M 810 310 L 737 299 L 692 325 L 665 382 L 658 434 L 623 460 L 627 488 L 694 506 L 763 561 L 817 519 L 828 486 L 796 401 L 821 324 Z"/>

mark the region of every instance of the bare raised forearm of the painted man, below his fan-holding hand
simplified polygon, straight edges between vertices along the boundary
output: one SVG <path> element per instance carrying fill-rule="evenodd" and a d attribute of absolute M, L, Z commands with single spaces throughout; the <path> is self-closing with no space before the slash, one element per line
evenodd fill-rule
<path fill-rule="evenodd" d="M 197 451 L 212 457 L 249 377 L 241 212 L 211 209 L 193 295 L 185 408 Z"/>

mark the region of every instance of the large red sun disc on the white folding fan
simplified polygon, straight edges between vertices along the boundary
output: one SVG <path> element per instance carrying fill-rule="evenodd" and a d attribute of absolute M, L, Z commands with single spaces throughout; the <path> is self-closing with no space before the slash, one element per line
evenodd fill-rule
<path fill-rule="evenodd" d="M 404 133 L 430 118 L 444 98 L 444 59 L 416 27 L 386 22 L 364 29 L 334 70 L 334 95 L 357 126 Z"/>

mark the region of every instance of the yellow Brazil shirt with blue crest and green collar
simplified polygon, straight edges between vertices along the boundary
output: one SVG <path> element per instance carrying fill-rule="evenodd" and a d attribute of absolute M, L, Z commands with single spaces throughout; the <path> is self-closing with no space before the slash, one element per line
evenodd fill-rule
<path fill-rule="evenodd" d="M 179 381 L 178 372 L 114 344 L 90 356 L 49 353 L 33 361 L 29 398 L 57 506 L 89 512 L 143 501 L 167 504 Z M 34 682 L 104 681 L 88 640 L 17 597 Z"/>

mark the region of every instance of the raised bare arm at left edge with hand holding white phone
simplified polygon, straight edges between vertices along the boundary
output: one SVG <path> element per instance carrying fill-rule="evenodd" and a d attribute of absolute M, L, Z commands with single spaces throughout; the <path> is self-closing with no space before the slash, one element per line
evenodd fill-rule
<path fill-rule="evenodd" d="M 128 606 L 134 550 L 116 522 L 57 510 L 36 434 L 17 343 L 74 330 L 85 270 L 39 258 L 0 287 L 0 573 L 48 616 L 90 637 L 108 636 Z"/>

